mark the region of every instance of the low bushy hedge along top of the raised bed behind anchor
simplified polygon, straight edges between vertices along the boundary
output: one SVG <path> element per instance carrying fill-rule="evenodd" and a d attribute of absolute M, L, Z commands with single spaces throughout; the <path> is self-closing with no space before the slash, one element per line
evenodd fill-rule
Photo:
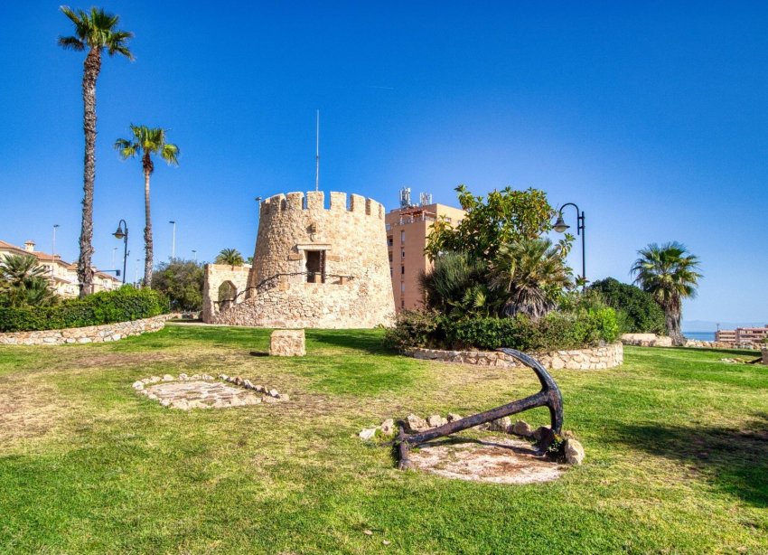
<path fill-rule="evenodd" d="M 616 313 L 608 307 L 552 312 L 539 320 L 519 315 L 453 321 L 434 313 L 403 311 L 397 325 L 388 330 L 385 342 L 401 351 L 414 347 L 482 351 L 510 347 L 544 353 L 611 343 L 618 335 Z"/>

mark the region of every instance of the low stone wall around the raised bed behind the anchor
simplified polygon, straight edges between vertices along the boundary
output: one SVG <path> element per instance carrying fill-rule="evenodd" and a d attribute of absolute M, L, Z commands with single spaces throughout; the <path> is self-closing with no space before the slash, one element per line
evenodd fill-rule
<path fill-rule="evenodd" d="M 498 351 L 439 351 L 437 349 L 414 349 L 409 353 L 417 359 L 443 362 L 461 362 L 477 366 L 496 368 L 520 368 L 521 362 Z M 622 343 L 611 343 L 588 349 L 533 353 L 534 358 L 545 368 L 552 370 L 602 370 L 619 366 L 624 360 Z"/>

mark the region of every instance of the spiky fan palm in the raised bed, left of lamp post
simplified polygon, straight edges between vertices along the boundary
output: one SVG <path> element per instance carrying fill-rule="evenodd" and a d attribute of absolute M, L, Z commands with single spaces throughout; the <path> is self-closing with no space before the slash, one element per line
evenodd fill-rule
<path fill-rule="evenodd" d="M 557 297 L 573 281 L 561 247 L 548 239 L 523 239 L 501 245 L 491 285 L 507 296 L 505 315 L 539 318 L 557 306 Z"/>

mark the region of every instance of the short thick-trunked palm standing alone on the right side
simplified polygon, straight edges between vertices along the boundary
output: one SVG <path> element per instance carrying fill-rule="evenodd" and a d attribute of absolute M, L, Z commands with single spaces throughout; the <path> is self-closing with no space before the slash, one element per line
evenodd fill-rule
<path fill-rule="evenodd" d="M 680 332 L 682 299 L 696 296 L 698 279 L 698 257 L 690 254 L 685 245 L 677 241 L 661 246 L 651 243 L 637 251 L 640 258 L 632 265 L 634 282 L 648 291 L 664 309 L 667 333 L 672 343 L 681 345 L 685 337 Z"/>

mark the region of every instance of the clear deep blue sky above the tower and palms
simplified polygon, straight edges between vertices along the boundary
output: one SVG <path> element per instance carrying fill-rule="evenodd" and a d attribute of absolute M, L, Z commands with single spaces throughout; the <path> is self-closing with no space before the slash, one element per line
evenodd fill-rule
<path fill-rule="evenodd" d="M 83 54 L 58 2 L 0 3 L 0 239 L 77 259 Z M 71 4 L 88 8 L 90 4 Z M 98 80 L 94 261 L 143 257 L 128 124 L 170 129 L 152 178 L 155 260 L 253 252 L 254 197 L 398 189 L 455 203 L 537 187 L 586 212 L 587 278 L 628 281 L 636 250 L 679 240 L 706 278 L 687 319 L 768 322 L 768 3 L 103 2 L 136 61 Z M 575 225 L 572 210 L 566 219 Z M 120 249 L 121 256 L 122 250 Z M 572 266 L 580 265 L 576 246 Z"/>

